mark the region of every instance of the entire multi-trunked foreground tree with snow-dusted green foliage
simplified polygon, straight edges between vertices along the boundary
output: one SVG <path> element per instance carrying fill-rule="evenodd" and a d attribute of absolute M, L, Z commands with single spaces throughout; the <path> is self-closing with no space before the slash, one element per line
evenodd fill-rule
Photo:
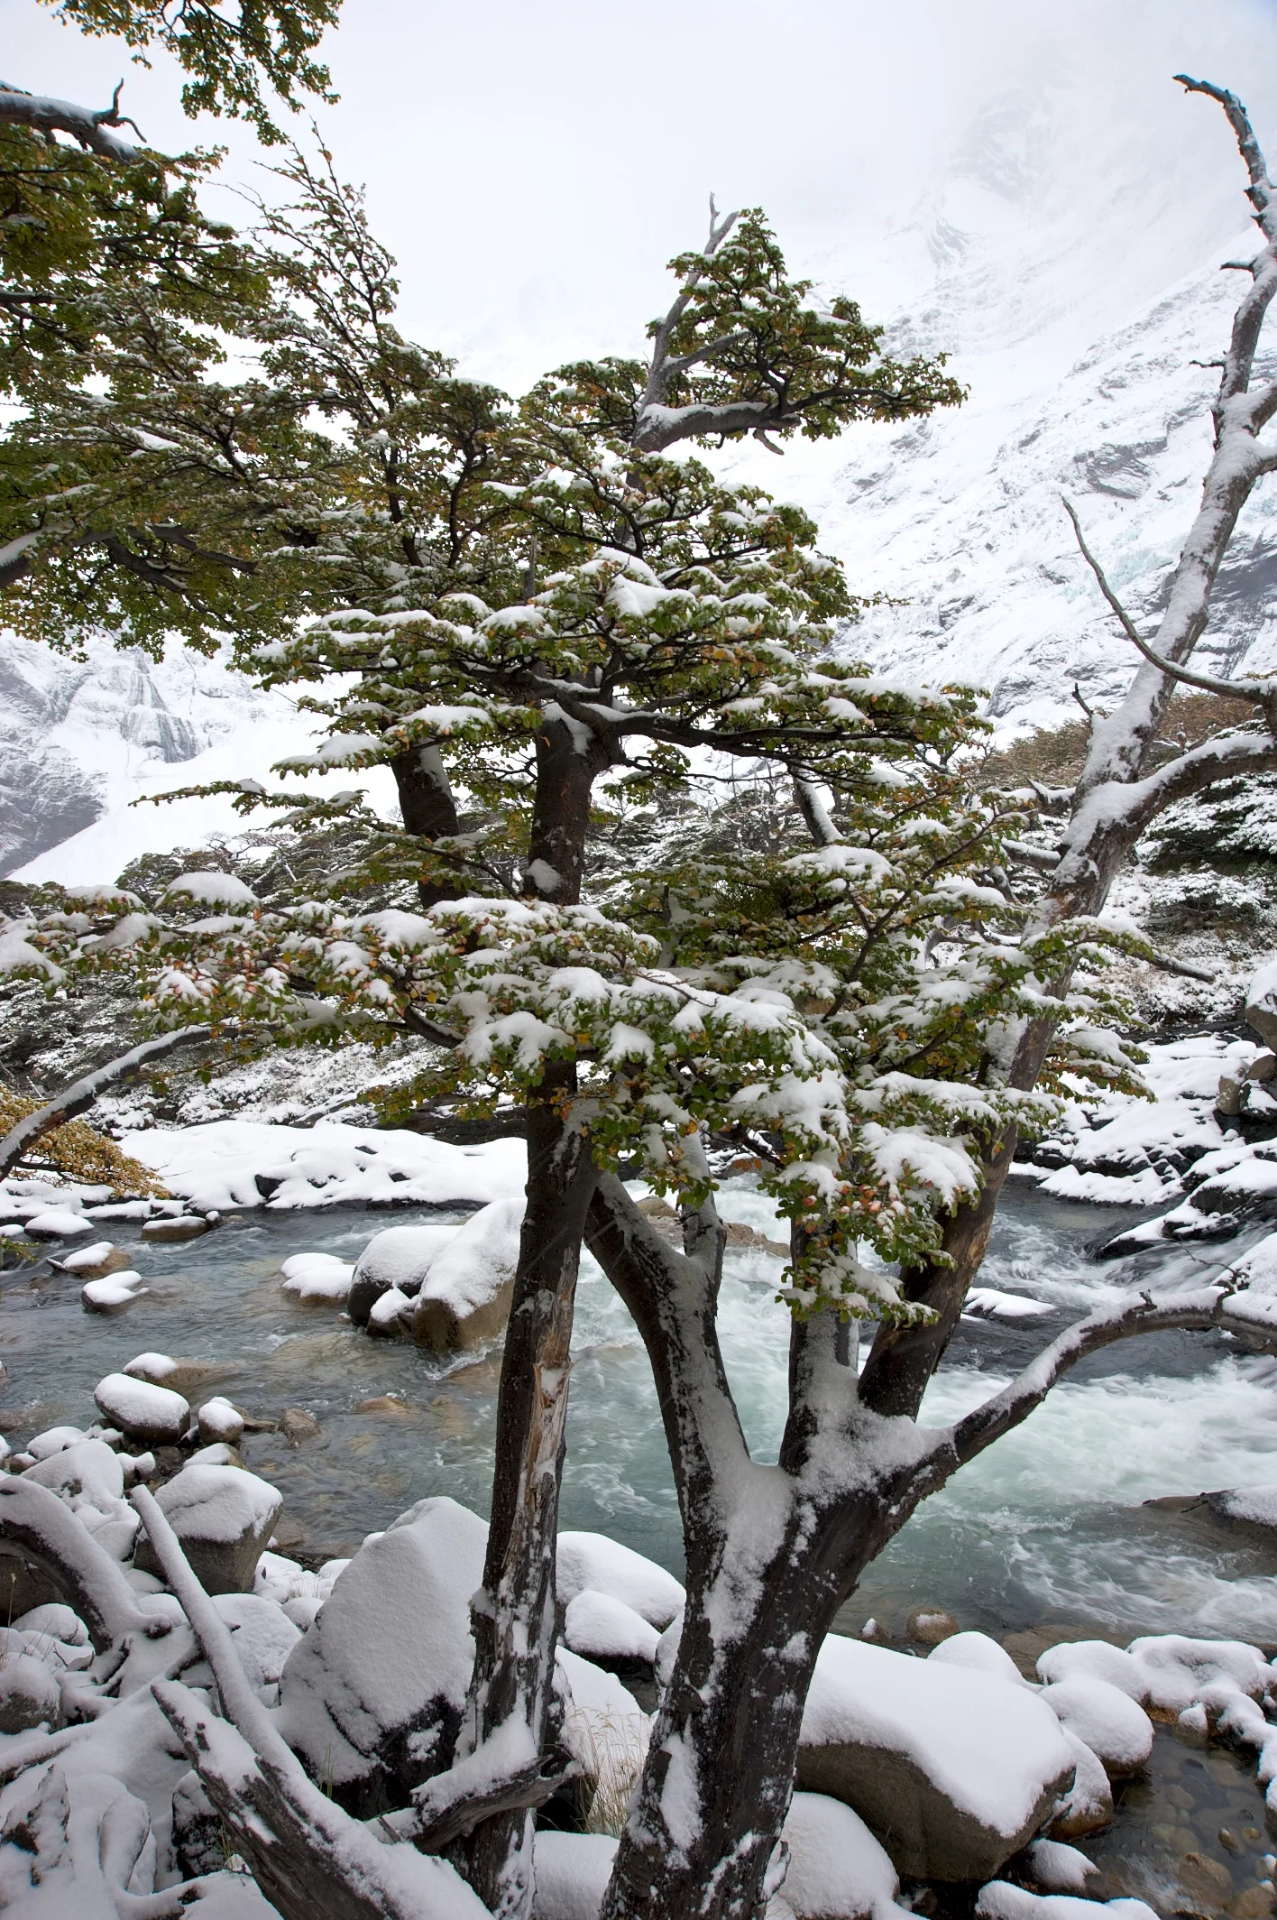
<path fill-rule="evenodd" d="M 1217 98 L 1264 225 L 1277 211 L 1262 156 L 1235 98 Z M 342 269 L 307 230 L 340 219 L 363 246 L 357 204 L 298 179 L 301 213 L 275 236 L 292 307 L 269 351 L 298 384 L 317 369 L 334 505 L 298 522 L 313 538 L 278 563 L 317 616 L 242 659 L 313 687 L 326 739 L 290 772 L 396 770 L 403 829 L 376 828 L 357 797 L 286 804 L 307 829 L 349 820 L 371 847 L 363 876 L 415 889 L 424 910 L 351 912 L 349 866 L 326 899 L 271 908 L 175 885 L 150 914 L 50 902 L 10 929 L 8 960 L 140 970 L 173 1029 L 334 1044 L 413 1033 L 422 1096 L 526 1110 L 470 1711 L 451 1764 L 392 1832 L 463 1847 L 494 1912 L 530 1910 L 530 1809 L 555 1782 L 553 1538 L 584 1236 L 651 1356 L 689 1572 L 605 1914 L 755 1920 L 782 1864 L 814 1655 L 864 1565 L 1087 1352 L 1160 1327 L 1250 1325 L 1223 1288 L 1141 1296 L 1072 1329 L 954 1428 L 916 1425 L 1018 1133 L 1043 1121 L 1064 1071 L 1131 1071 L 1102 987 L 1121 945 L 1100 920 L 1112 876 L 1160 806 L 1277 764 L 1267 726 L 1146 764 L 1237 513 L 1277 459 L 1260 440 L 1277 390 L 1250 394 L 1275 236 L 1264 227 L 1166 618 L 1152 639 L 1133 634 L 1152 659 L 1096 722 L 1062 851 L 1043 856 L 1024 797 L 956 778 L 979 726 L 972 695 L 908 691 L 835 657 L 853 605 L 805 515 L 668 451 L 926 413 L 956 397 L 941 369 L 883 359 L 851 303 L 816 307 L 760 217 L 714 221 L 707 250 L 676 263 L 647 367 L 574 365 L 518 407 L 486 394 L 469 453 L 457 415 L 442 424 L 434 407 L 451 369 L 394 334 L 388 263 L 353 307 L 332 298 Z M 317 213 L 334 194 L 340 209 Z M 284 474 L 275 499 L 296 486 L 311 511 L 315 472 Z M 344 582 L 326 609 L 307 553 Z M 1271 693 L 1246 697 L 1267 708 Z M 759 764 L 793 789 L 762 851 L 718 841 L 634 872 L 595 858 L 618 818 L 686 806 Z M 255 783 L 242 795 L 263 799 Z M 1024 864 L 1043 858 L 1033 893 Z M 718 1350 L 716 1139 L 753 1150 L 791 1219 L 776 1465 L 749 1457 Z M 682 1252 L 630 1202 L 622 1162 L 676 1194 Z M 858 1379 L 862 1317 L 878 1332 Z M 1254 1327 L 1271 1332 L 1262 1315 Z M 252 1857 L 252 1809 L 242 1830 Z"/>

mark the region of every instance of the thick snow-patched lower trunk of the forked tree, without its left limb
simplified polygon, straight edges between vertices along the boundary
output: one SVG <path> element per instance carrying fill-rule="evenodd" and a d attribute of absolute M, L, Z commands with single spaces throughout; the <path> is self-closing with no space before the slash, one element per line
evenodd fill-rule
<path fill-rule="evenodd" d="M 831 1375 L 843 1377 L 837 1398 L 849 1415 L 841 1494 L 818 1461 L 808 1475 L 814 1450 L 830 1446 Z M 833 1313 L 795 1323 L 793 1411 L 778 1467 L 749 1465 L 734 1496 L 720 1490 L 732 1501 L 726 1524 L 714 1528 L 707 1507 L 707 1524 L 686 1530 L 686 1626 L 603 1920 L 760 1920 L 780 1880 L 776 1849 L 814 1655 L 864 1567 L 931 1484 L 918 1461 L 883 1476 L 864 1461 L 855 1473 L 864 1452 L 855 1379 L 847 1323 Z M 680 1413 L 687 1423 L 686 1404 Z M 881 1421 L 870 1423 L 870 1448 L 878 1436 Z M 764 1540 L 776 1548 L 759 1567 Z"/>

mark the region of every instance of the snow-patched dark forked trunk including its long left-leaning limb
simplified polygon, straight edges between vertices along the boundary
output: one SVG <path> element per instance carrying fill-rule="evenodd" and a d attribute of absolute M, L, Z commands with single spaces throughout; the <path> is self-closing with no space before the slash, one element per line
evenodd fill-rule
<path fill-rule="evenodd" d="M 816 1649 L 937 1482 L 908 1446 L 895 1469 L 891 1448 L 874 1455 L 885 1423 L 858 1415 L 855 1331 L 833 1313 L 795 1323 L 780 1461 L 749 1459 L 714 1327 L 712 1204 L 684 1221 L 680 1258 L 620 1183 L 601 1179 L 588 1244 L 653 1363 L 687 1557 L 678 1657 L 601 1920 L 760 1920 L 783 1864 Z M 830 1421 L 841 1484 L 824 1471 L 835 1463 Z"/>

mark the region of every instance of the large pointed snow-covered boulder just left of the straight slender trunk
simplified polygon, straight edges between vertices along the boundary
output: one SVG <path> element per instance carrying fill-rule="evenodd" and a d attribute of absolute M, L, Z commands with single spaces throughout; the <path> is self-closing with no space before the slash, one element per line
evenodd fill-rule
<path fill-rule="evenodd" d="M 488 1528 L 419 1500 L 338 1576 L 280 1676 L 278 1726 L 349 1805 L 384 1805 L 447 1764 L 465 1707 Z M 394 1799 L 392 1799 L 394 1805 Z"/>

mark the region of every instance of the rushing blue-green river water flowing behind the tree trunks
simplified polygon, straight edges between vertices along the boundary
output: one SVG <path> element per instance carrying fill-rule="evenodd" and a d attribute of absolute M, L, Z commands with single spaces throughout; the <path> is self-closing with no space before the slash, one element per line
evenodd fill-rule
<path fill-rule="evenodd" d="M 724 1213 L 776 1231 L 749 1183 L 728 1183 Z M 111 1319 L 84 1313 L 71 1277 L 35 1269 L 0 1281 L 0 1359 L 8 1369 L 0 1427 L 12 1446 L 56 1423 L 94 1419 L 96 1380 L 134 1354 L 159 1350 L 207 1363 L 205 1392 L 275 1421 L 305 1407 L 321 1438 L 246 1438 L 246 1463 L 284 1494 L 280 1548 L 305 1559 L 349 1553 L 413 1500 L 451 1494 L 488 1509 L 499 1356 L 451 1359 L 407 1342 L 373 1340 L 332 1304 L 284 1292 L 288 1254 L 351 1260 L 392 1221 L 440 1219 L 355 1210 L 227 1217 L 177 1248 L 129 1246 L 150 1292 Z M 1148 1283 L 1141 1265 L 1104 1263 L 1087 1244 L 1121 1225 L 1108 1208 L 1050 1202 L 1012 1185 L 981 1284 L 1050 1308 L 1033 1321 L 964 1319 L 924 1419 L 943 1423 L 997 1390 L 1047 1338 L 1089 1308 Z M 1175 1254 L 1177 1275 L 1187 1277 Z M 1219 1265 L 1196 1256 L 1196 1284 Z M 774 1459 L 785 1402 L 785 1311 L 778 1261 L 730 1252 L 722 1342 L 741 1419 L 759 1459 Z M 1168 1269 L 1169 1271 L 1169 1269 Z M 638 1334 L 588 1263 L 576 1311 L 563 1524 L 599 1528 L 682 1569 L 678 1511 L 647 1359 Z M 396 1411 L 359 1411 L 398 1396 Z M 874 1615 L 901 1632 L 920 1603 L 962 1626 L 1004 1636 L 1024 1628 L 1235 1634 L 1277 1642 L 1277 1555 L 1193 1517 L 1148 1509 L 1166 1494 L 1277 1480 L 1277 1361 L 1221 1336 L 1164 1334 L 1093 1357 L 1020 1432 L 908 1523 L 868 1571 L 839 1626 Z"/>

